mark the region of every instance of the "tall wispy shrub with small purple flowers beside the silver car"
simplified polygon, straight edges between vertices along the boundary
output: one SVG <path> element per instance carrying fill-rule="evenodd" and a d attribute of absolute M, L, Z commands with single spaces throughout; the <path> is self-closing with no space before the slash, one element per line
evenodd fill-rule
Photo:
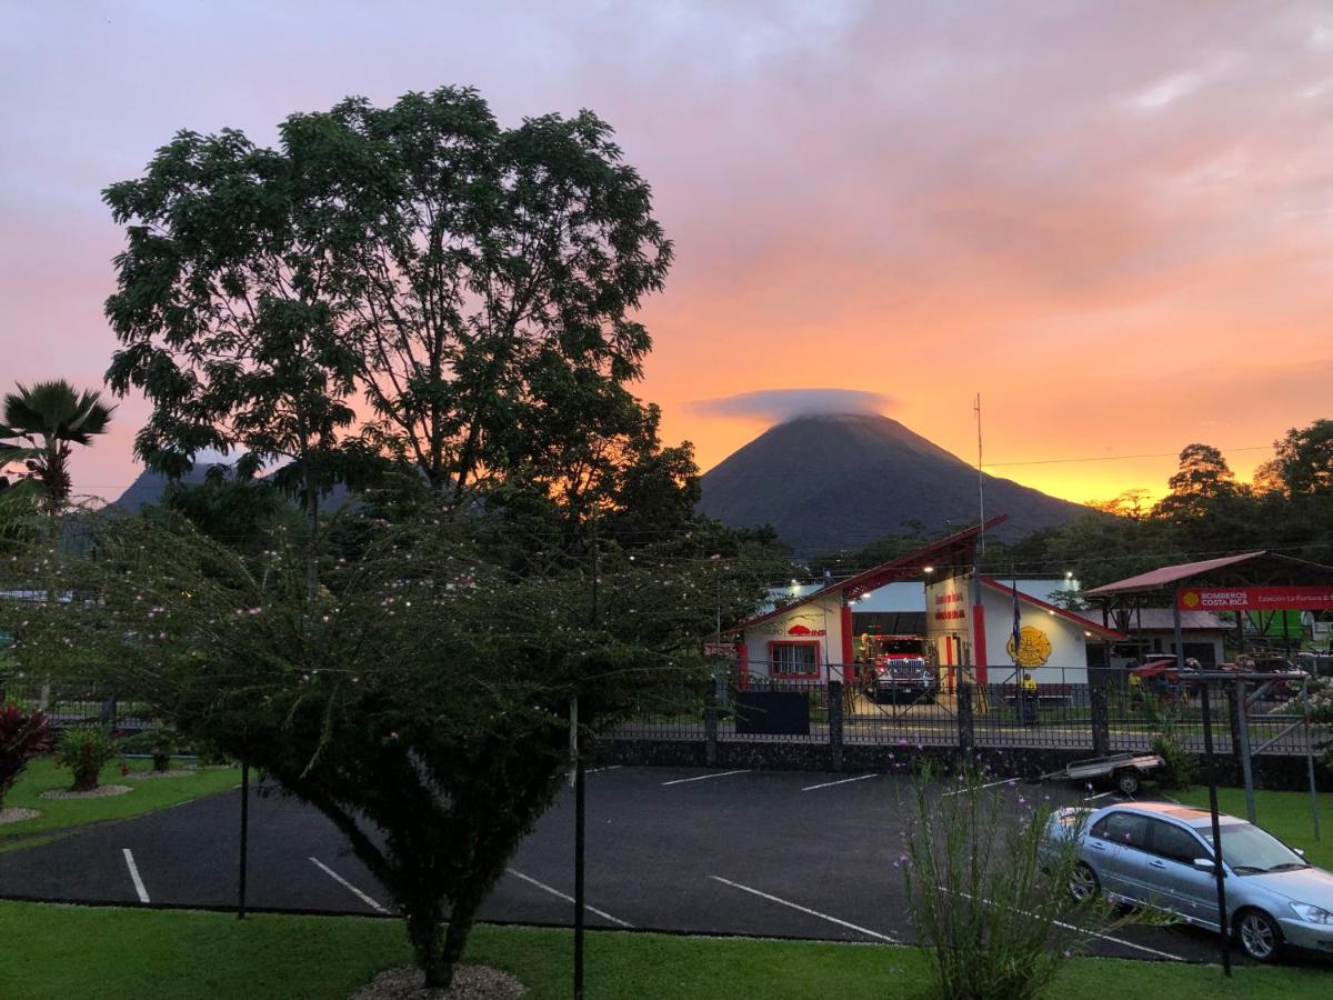
<path fill-rule="evenodd" d="M 1050 809 L 964 773 L 941 795 L 929 771 L 913 780 L 906 853 L 908 912 L 946 1000 L 1030 1000 L 1094 932 L 1133 919 L 1097 893 L 1069 892 L 1078 821 L 1048 840 Z M 1012 796 L 1010 796 L 1012 799 Z M 1072 817 L 1078 820 L 1078 815 Z"/>

